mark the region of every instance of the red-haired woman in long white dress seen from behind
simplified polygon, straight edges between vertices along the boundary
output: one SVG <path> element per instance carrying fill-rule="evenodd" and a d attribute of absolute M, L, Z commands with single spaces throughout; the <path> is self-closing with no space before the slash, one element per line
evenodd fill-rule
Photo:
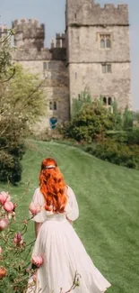
<path fill-rule="evenodd" d="M 39 188 L 32 202 L 42 209 L 33 217 L 37 240 L 32 259 L 40 256 L 44 260 L 38 270 L 35 293 L 65 293 L 72 285 L 74 293 L 105 292 L 111 285 L 95 268 L 74 231 L 72 223 L 79 216 L 78 205 L 56 160 L 42 161 Z"/>

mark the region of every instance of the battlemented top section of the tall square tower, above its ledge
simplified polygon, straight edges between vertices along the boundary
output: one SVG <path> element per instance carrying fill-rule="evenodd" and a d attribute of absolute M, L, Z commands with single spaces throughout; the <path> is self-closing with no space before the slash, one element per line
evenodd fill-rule
<path fill-rule="evenodd" d="M 85 2 L 67 0 L 68 15 L 66 14 L 66 27 L 80 25 L 119 25 L 128 26 L 128 5 L 100 4 L 88 0 Z"/>

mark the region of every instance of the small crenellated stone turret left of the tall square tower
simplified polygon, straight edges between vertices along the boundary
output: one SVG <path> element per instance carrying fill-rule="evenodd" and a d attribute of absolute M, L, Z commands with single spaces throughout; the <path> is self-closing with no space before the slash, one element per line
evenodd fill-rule
<path fill-rule="evenodd" d="M 13 22 L 14 45 L 18 49 L 38 49 L 44 47 L 45 27 L 36 19 L 21 19 Z"/>

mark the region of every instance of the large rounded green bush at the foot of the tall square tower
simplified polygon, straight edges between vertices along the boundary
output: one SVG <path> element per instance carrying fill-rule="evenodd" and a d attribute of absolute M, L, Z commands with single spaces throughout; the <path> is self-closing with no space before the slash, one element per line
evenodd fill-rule
<path fill-rule="evenodd" d="M 83 105 L 79 114 L 70 123 L 63 124 L 59 131 L 65 138 L 92 142 L 98 135 L 103 137 L 105 131 L 112 129 L 114 125 L 114 115 L 100 101 L 94 101 L 91 105 Z"/>

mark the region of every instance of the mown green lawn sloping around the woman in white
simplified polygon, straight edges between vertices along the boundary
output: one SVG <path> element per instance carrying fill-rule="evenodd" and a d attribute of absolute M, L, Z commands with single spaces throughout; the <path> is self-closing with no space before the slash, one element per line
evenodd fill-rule
<path fill-rule="evenodd" d="M 101 161 L 65 144 L 30 142 L 30 151 L 22 160 L 22 184 L 18 188 L 1 185 L 17 200 L 30 181 L 18 211 L 21 221 L 28 217 L 28 204 L 45 157 L 57 160 L 67 184 L 74 189 L 80 207 L 75 230 L 94 264 L 112 283 L 109 293 L 138 293 L 139 171 Z M 32 227 L 30 224 L 28 241 L 34 237 Z"/>

